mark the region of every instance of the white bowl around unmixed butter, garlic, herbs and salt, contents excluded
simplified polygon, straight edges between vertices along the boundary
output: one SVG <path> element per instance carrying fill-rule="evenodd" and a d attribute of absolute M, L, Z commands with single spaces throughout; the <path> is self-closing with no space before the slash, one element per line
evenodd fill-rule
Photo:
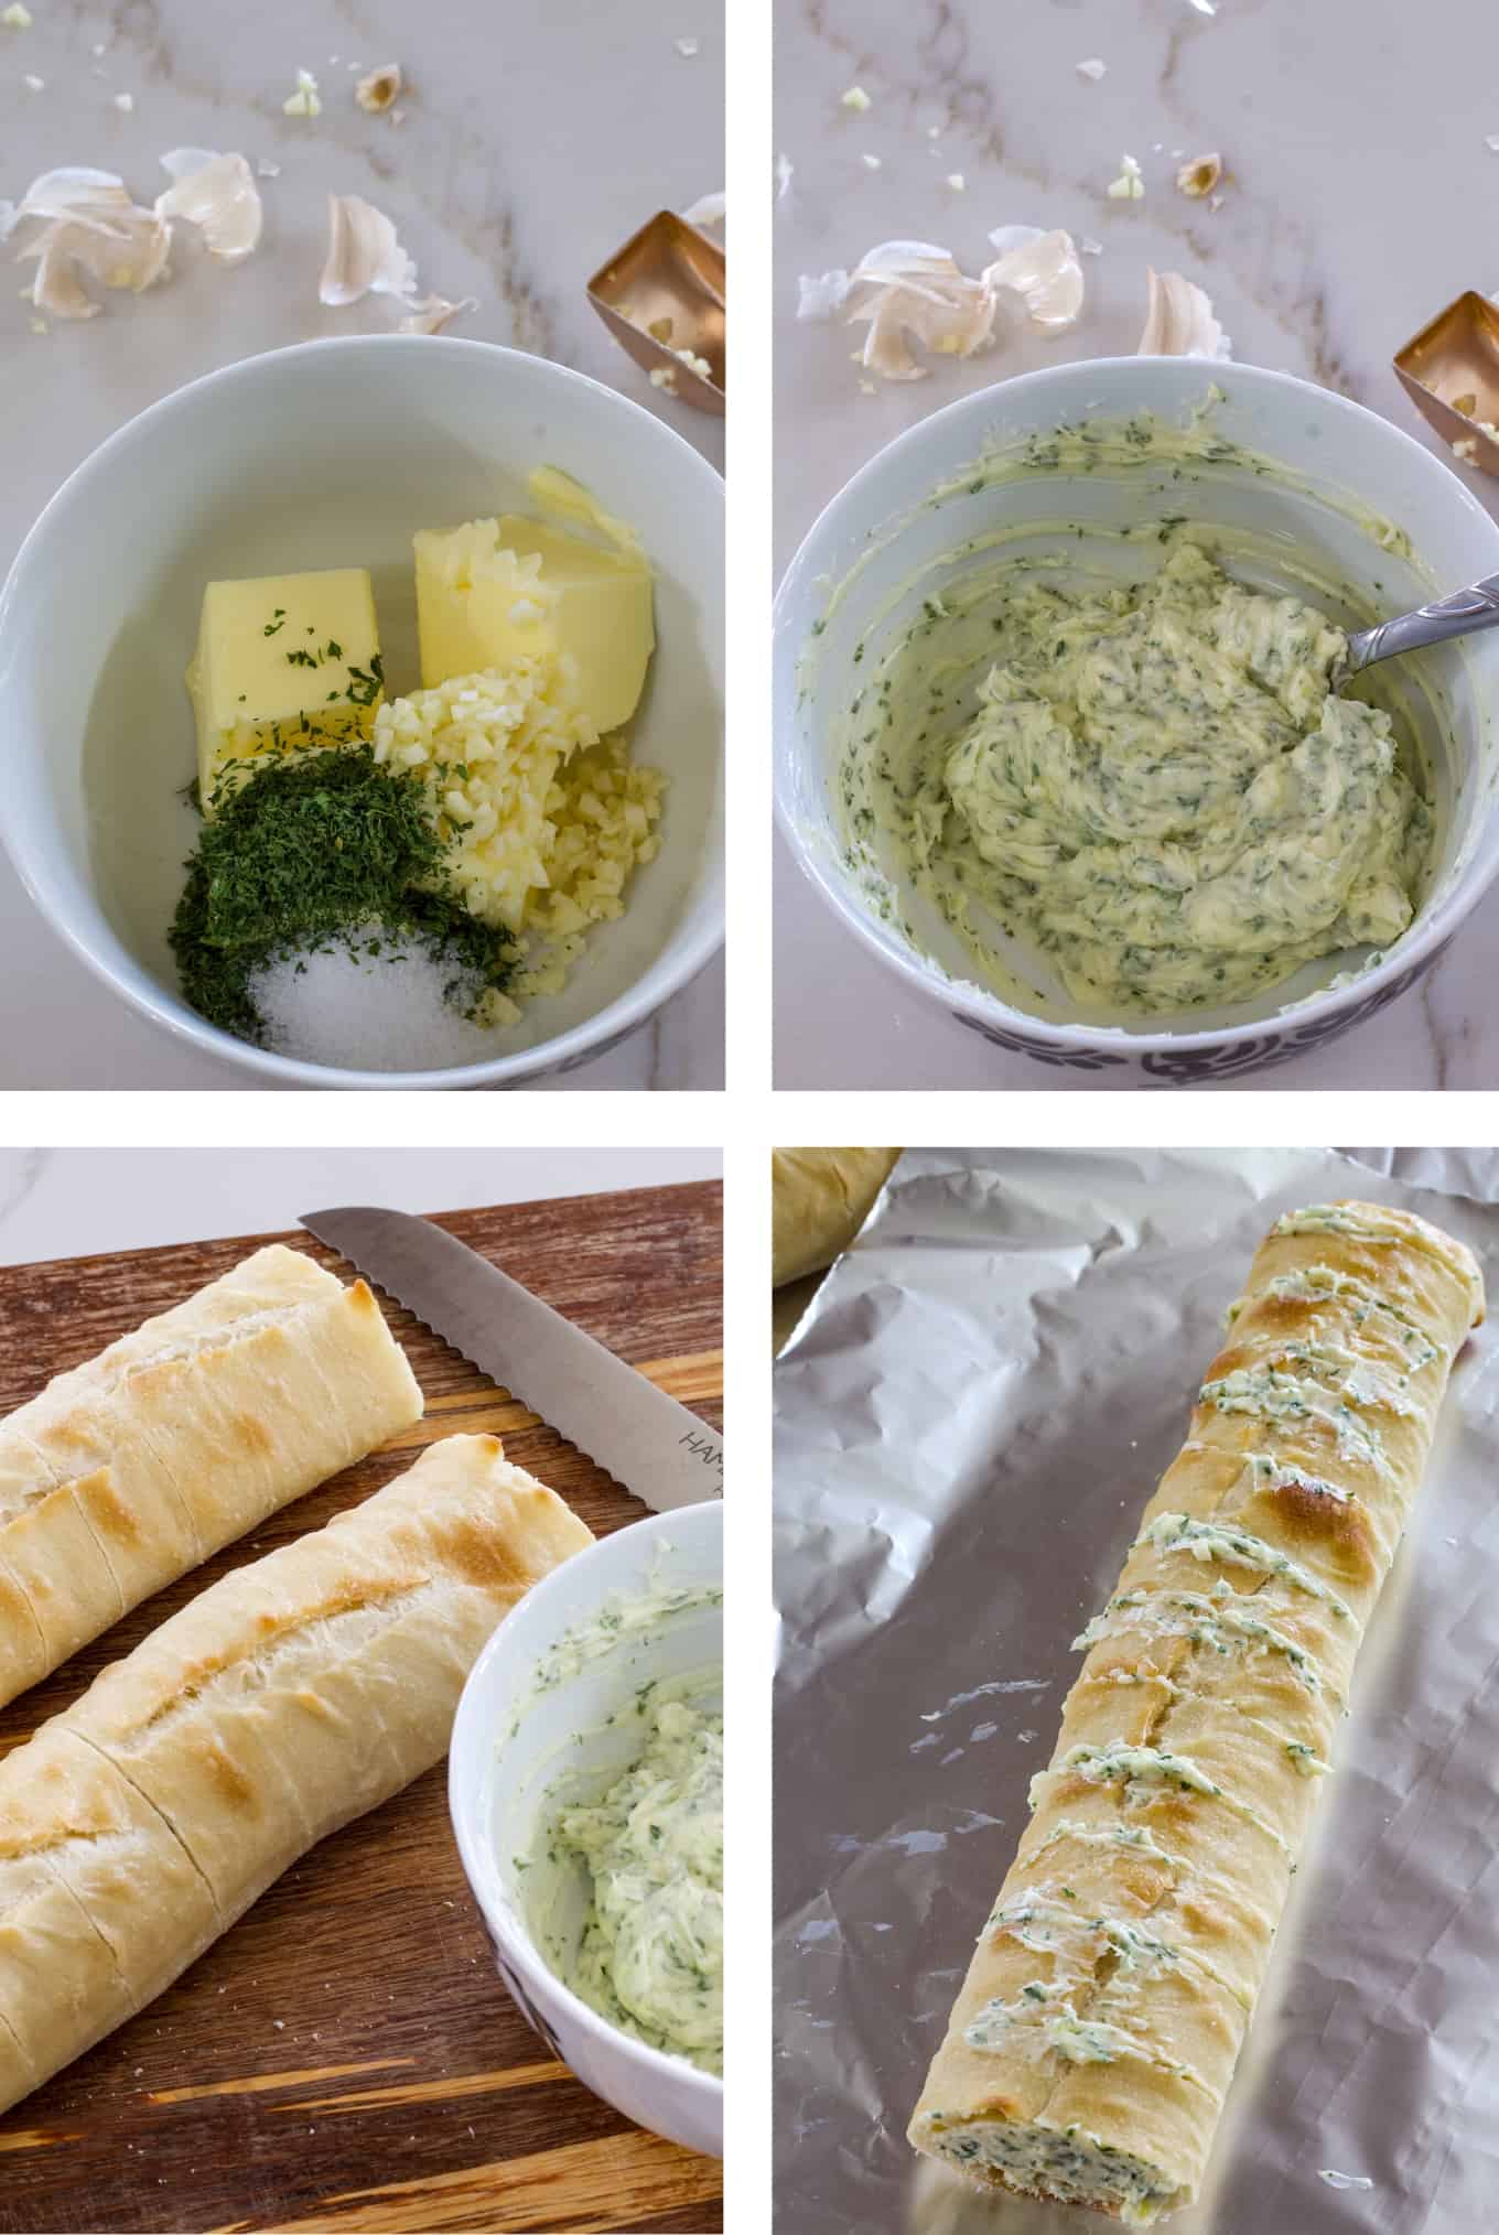
<path fill-rule="evenodd" d="M 670 776 L 661 854 L 567 988 L 453 1071 L 340 1071 L 250 1048 L 176 990 L 168 923 L 194 816 L 183 668 L 203 583 L 369 565 L 395 691 L 420 682 L 411 534 L 527 510 L 561 465 L 657 565 L 657 655 L 634 753 Z M 724 485 L 612 389 L 487 342 L 355 335 L 250 358 L 121 427 L 63 485 L 0 592 L 0 825 L 42 914 L 181 1039 L 302 1086 L 500 1086 L 643 1024 L 724 936 Z"/>

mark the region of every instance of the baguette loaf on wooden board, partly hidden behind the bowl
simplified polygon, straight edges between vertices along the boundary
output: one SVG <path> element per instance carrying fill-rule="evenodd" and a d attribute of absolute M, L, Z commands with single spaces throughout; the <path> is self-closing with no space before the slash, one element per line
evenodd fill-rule
<path fill-rule="evenodd" d="M 590 1542 L 496 1437 L 447 1437 L 214 1582 L 0 1761 L 0 2110 L 440 1761 L 494 1625 Z"/>

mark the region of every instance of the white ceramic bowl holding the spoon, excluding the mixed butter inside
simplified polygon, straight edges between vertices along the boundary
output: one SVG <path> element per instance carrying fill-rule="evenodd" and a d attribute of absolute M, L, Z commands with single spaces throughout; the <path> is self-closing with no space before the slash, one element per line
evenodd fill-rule
<path fill-rule="evenodd" d="M 1242 467 L 1193 467 L 1168 481 L 1150 463 L 1086 478 L 1030 474 L 976 494 L 965 485 L 965 469 L 996 440 L 1050 434 L 1063 420 L 1119 420 L 1137 411 L 1184 422 L 1211 384 L 1224 391 L 1213 429 L 1298 476 L 1298 485 Z M 952 492 L 932 501 L 949 483 Z M 1412 559 L 1383 550 L 1352 507 L 1403 527 Z M 1081 519 L 1119 527 L 1182 514 L 1253 536 L 1260 586 L 1307 595 L 1296 581 L 1305 563 L 1347 586 L 1349 599 L 1334 590 L 1323 603 L 1352 626 L 1499 570 L 1499 525 L 1459 476 L 1360 405 L 1242 364 L 1209 369 L 1182 358 L 1104 358 L 1025 373 L 911 427 L 833 498 L 791 563 L 775 606 L 777 814 L 829 907 L 907 986 L 958 1024 L 1043 1064 L 1106 1071 L 1119 1086 L 1253 1071 L 1349 1030 L 1436 961 L 1499 867 L 1497 630 L 1383 670 L 1381 693 L 1398 693 L 1423 731 L 1436 782 L 1439 860 L 1412 928 L 1349 983 L 1331 983 L 1349 970 L 1349 959 L 1329 957 L 1258 1001 L 1195 1010 L 1180 1024 L 1119 1019 L 1113 1028 L 1113 1021 L 1068 1017 L 1066 999 L 1032 1012 L 1019 997 L 1001 999 L 974 986 L 970 950 L 907 890 L 903 903 L 920 948 L 880 914 L 844 860 L 847 836 L 831 780 L 836 731 L 858 691 L 856 646 L 871 648 L 873 666 L 880 644 L 909 621 L 923 595 L 985 563 L 952 557 L 970 536 L 1005 525 Z M 1025 548 L 1014 545 L 1016 552 Z M 1144 574 L 1148 545 L 1139 550 L 1137 572 Z M 833 599 L 838 586 L 842 597 Z M 824 626 L 813 639 L 818 621 Z M 1405 668 L 1405 677 L 1396 679 L 1396 668 Z"/>

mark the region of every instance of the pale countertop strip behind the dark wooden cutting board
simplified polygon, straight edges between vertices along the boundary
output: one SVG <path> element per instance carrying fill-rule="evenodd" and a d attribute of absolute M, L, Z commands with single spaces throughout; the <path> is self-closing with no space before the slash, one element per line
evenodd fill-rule
<path fill-rule="evenodd" d="M 722 1169 L 717 1149 L 0 1149 L 0 1263 L 275 1234 L 331 1202 L 460 1211 Z"/>

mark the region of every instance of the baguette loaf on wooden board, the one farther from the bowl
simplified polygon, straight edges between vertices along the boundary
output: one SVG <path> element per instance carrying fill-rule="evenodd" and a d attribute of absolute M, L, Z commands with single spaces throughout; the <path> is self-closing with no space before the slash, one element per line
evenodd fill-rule
<path fill-rule="evenodd" d="M 422 1417 L 357 1281 L 279 1243 L 0 1421 L 0 1703 Z"/>

